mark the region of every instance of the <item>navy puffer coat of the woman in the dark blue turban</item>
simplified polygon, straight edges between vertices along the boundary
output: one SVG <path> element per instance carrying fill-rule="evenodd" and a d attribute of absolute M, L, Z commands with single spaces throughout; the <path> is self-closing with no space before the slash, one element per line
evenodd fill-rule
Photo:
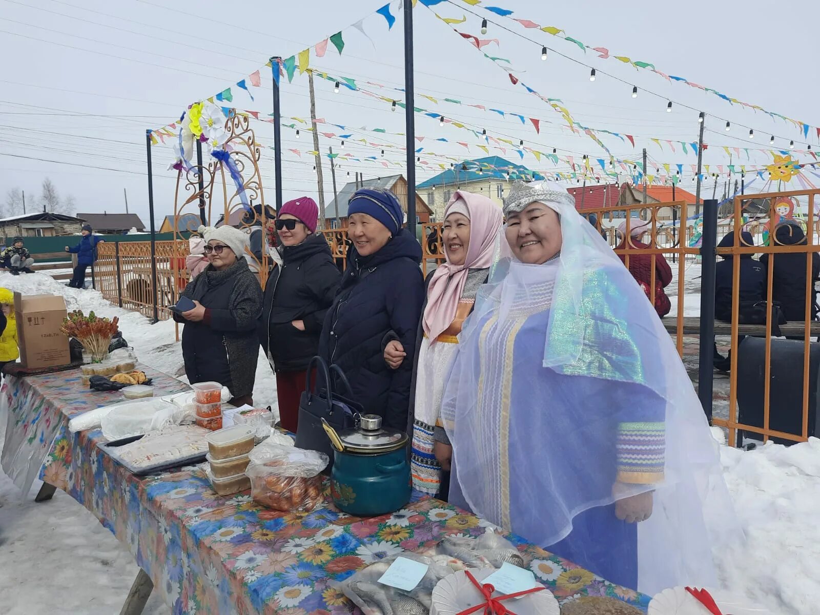
<path fill-rule="evenodd" d="M 344 371 L 353 399 L 384 425 L 407 429 L 413 349 L 424 301 L 421 246 L 407 230 L 369 257 L 348 250 L 348 268 L 321 331 L 319 354 Z M 398 370 L 382 356 L 385 334 L 395 331 L 408 353 Z"/>

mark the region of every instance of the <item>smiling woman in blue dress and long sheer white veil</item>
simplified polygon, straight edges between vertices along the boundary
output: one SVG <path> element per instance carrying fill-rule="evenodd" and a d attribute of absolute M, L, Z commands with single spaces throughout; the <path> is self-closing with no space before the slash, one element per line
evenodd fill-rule
<path fill-rule="evenodd" d="M 559 185 L 519 182 L 504 215 L 512 257 L 444 392 L 449 501 L 619 585 L 713 584 L 711 545 L 735 520 L 654 308 Z"/>

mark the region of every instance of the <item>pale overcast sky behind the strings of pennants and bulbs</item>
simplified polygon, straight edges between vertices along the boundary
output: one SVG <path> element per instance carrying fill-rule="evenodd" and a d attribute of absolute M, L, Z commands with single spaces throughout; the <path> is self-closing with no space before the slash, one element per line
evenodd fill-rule
<path fill-rule="evenodd" d="M 0 0 L 0 53 L 4 58 L 0 62 L 0 201 L 5 201 L 8 189 L 19 187 L 25 190 L 30 203 L 39 195 L 43 178 L 49 177 L 60 194 L 74 196 L 79 211 L 124 212 L 123 189 L 127 189 L 130 211 L 142 216 L 148 225 L 145 129 L 175 121 L 189 103 L 230 86 L 235 107 L 265 116 L 272 109 L 270 71 L 262 69 L 262 86 L 251 88 L 254 101 L 235 83 L 261 68 L 268 57 L 289 57 L 342 29 L 343 54 L 339 57 L 332 45 L 322 58 L 315 57 L 312 50 L 312 66 L 351 77 L 367 89 L 402 100 L 402 93 L 389 88 L 403 87 L 403 21 L 394 2 L 392 12 L 398 20 L 388 30 L 385 19 L 374 14 L 384 3 Z M 668 75 L 681 75 L 730 97 L 812 126 L 820 125 L 818 84 L 809 67 L 815 48 L 814 29 L 820 18 L 817 2 L 786 5 L 762 0 L 743 4 L 693 0 L 640 5 L 497 0 L 491 4 L 512 9 L 514 17 L 566 30 L 568 36 L 590 47 L 608 48 L 613 56 L 652 62 Z M 455 26 L 462 32 L 481 39 L 498 39 L 498 45 L 490 43 L 484 51 L 508 59 L 515 74 L 531 88 L 546 97 L 560 98 L 576 121 L 635 135 L 635 148 L 616 137 L 602 137 L 614 156 L 640 160 L 640 150 L 646 147 L 650 173 L 653 166 L 658 166 L 663 174 L 664 162 L 683 163 L 686 177 L 682 186 L 690 191 L 695 190 L 690 183 L 690 165 L 697 162 L 694 153 L 684 154 L 679 144 L 672 153 L 663 139 L 696 141 L 699 125 L 695 110 L 708 114 L 705 141 L 710 148 L 704 162 L 714 167 L 712 171 L 717 171 L 717 165 L 724 166 L 724 175 L 730 163 L 724 145 L 768 148 L 773 134 L 778 149 L 787 149 L 790 139 L 795 139 L 797 148 L 805 148 L 807 143 L 820 148 L 813 128 L 809 139 L 804 139 L 800 130 L 786 122 L 733 106 L 686 84 L 670 83 L 649 71 L 636 71 L 617 60 L 599 59 L 590 50 L 581 52 L 572 43 L 540 30 L 525 29 L 480 7 L 452 0 L 433 8 L 444 17 L 467 16 L 466 22 Z M 512 32 L 490 23 L 488 33 L 481 35 L 480 19 L 468 11 L 488 16 Z M 372 43 L 358 30 L 348 28 L 362 17 L 367 17 L 363 25 Z M 526 93 L 521 85 L 513 85 L 503 70 L 435 19 L 421 3 L 414 11 L 414 21 L 417 107 L 441 112 L 476 129 L 481 127 L 499 139 L 523 139 L 529 147 L 543 152 L 558 148 L 559 155 L 572 155 L 576 161 L 584 153 L 593 159 L 608 159 L 602 148 L 584 135 L 572 134 L 558 113 Z M 542 44 L 550 48 L 546 62 L 540 58 Z M 592 83 L 590 69 L 577 62 L 622 81 L 599 72 Z M 385 89 L 367 85 L 366 81 Z M 632 85 L 639 88 L 638 98 L 631 98 Z M 316 86 L 317 116 L 346 125 L 348 134 L 370 143 L 403 145 L 403 137 L 397 134 L 358 130 L 367 127 L 403 132 L 401 109 L 391 112 L 389 103 L 344 87 L 334 93 L 334 84 L 323 80 L 317 80 Z M 283 80 L 282 90 L 283 116 L 309 117 L 307 75 L 297 72 L 292 84 Z M 421 98 L 421 93 L 437 98 L 439 103 Z M 445 103 L 444 98 L 456 98 L 465 104 Z M 671 113 L 666 112 L 667 100 L 674 102 Z M 522 125 L 517 117 L 484 112 L 467 107 L 467 103 L 539 118 L 540 134 L 529 122 Z M 728 133 L 723 130 L 726 121 L 732 122 Z M 425 116 L 417 116 L 416 124 L 416 134 L 426 137 L 417 144 L 425 148 L 421 158 L 426 162 L 418 167 L 419 181 L 440 171 L 439 163 L 449 165 L 444 156 L 485 156 L 477 147 L 481 139 L 467 131 L 451 125 L 440 128 L 438 120 Z M 262 145 L 272 146 L 270 124 L 253 121 L 252 127 Z M 754 140 L 747 138 L 749 127 L 754 128 Z M 330 125 L 321 125 L 320 130 L 344 134 Z M 432 142 L 439 137 L 451 143 Z M 663 149 L 653 138 L 661 139 Z M 342 153 L 338 138 L 321 137 L 320 141 L 323 152 L 332 146 Z M 469 151 L 457 141 L 467 143 Z M 344 153 L 361 158 L 375 155 L 379 160 L 340 162 L 339 189 L 348 179 L 348 172 L 353 175 L 362 171 L 366 178 L 403 172 L 399 166 L 390 164 L 385 169 L 381 165 L 380 147 L 349 141 L 346 145 Z M 298 149 L 302 156 L 289 152 L 291 148 Z M 301 194 L 315 197 L 313 160 L 307 155 L 311 149 L 309 133 L 303 130 L 297 139 L 294 130 L 283 129 L 285 200 Z M 503 155 L 494 149 L 490 153 Z M 733 163 L 747 166 L 772 161 L 767 153 L 754 151 L 748 160 L 743 150 L 740 161 L 733 151 L 732 155 Z M 385 162 L 403 161 L 403 156 L 398 148 L 385 148 Z M 153 148 L 157 220 L 173 212 L 175 171 L 166 171 L 172 157 L 170 146 Z M 509 148 L 503 157 L 539 171 L 567 170 L 563 162 L 558 167 L 544 159 L 537 162 L 531 153 L 521 161 Z M 326 200 L 330 202 L 332 185 L 326 158 L 323 163 Z M 266 202 L 274 203 L 270 148 L 264 149 L 261 166 Z M 597 163 L 594 166 L 599 169 Z M 808 173 L 806 177 L 820 180 Z M 621 180 L 626 180 L 626 175 Z M 718 196 L 726 180 L 725 176 L 719 180 Z M 763 181 L 756 183 L 752 189 L 763 188 Z M 712 185 L 711 181 L 706 185 L 707 193 L 711 193 Z M 796 189 L 799 185 L 790 187 Z"/>

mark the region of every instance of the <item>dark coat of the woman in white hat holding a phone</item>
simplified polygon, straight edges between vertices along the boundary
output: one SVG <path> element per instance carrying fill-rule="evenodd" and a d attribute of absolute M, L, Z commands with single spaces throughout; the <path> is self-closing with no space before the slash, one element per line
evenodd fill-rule
<path fill-rule="evenodd" d="M 262 288 L 248 262 L 239 258 L 222 271 L 208 265 L 185 286 L 182 296 L 206 308 L 199 322 L 174 314 L 175 321 L 185 323 L 182 358 L 189 382 L 213 380 L 228 387 L 234 397 L 253 394 Z"/>

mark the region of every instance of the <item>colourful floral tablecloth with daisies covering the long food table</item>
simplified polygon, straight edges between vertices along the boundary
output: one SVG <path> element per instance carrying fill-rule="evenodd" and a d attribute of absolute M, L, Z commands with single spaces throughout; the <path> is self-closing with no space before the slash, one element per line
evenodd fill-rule
<path fill-rule="evenodd" d="M 475 537 L 490 526 L 433 499 L 362 520 L 330 504 L 310 513 L 284 513 L 257 506 L 248 492 L 223 498 L 214 493 L 198 467 L 138 478 L 97 448 L 103 438 L 100 431 L 68 432 L 68 417 L 82 412 L 77 408 L 97 405 L 85 402 L 83 406 L 82 397 L 91 394 L 41 389 L 40 378 L 34 382 L 9 379 L 3 398 L 31 395 L 39 410 L 31 408 L 23 421 L 16 421 L 10 412 L 8 430 L 29 425 L 30 432 L 36 426 L 45 440 L 48 430 L 40 423 L 43 417 L 52 421 L 57 440 L 48 454 L 44 480 L 71 494 L 130 549 L 173 613 L 358 613 L 331 581 L 343 580 L 391 554 L 426 549 L 444 535 Z M 162 378 L 169 376 L 159 376 L 155 382 L 161 383 Z M 43 399 L 29 389 L 36 389 Z M 11 403 L 11 408 L 19 411 L 20 406 Z M 53 427 L 54 421 L 61 425 Z M 37 449 L 33 446 L 37 438 L 28 443 L 29 450 Z M 48 452 L 44 444 L 39 447 L 43 449 Z M 508 537 L 560 601 L 606 595 L 645 612 L 648 596 L 612 585 L 515 536 Z"/>

